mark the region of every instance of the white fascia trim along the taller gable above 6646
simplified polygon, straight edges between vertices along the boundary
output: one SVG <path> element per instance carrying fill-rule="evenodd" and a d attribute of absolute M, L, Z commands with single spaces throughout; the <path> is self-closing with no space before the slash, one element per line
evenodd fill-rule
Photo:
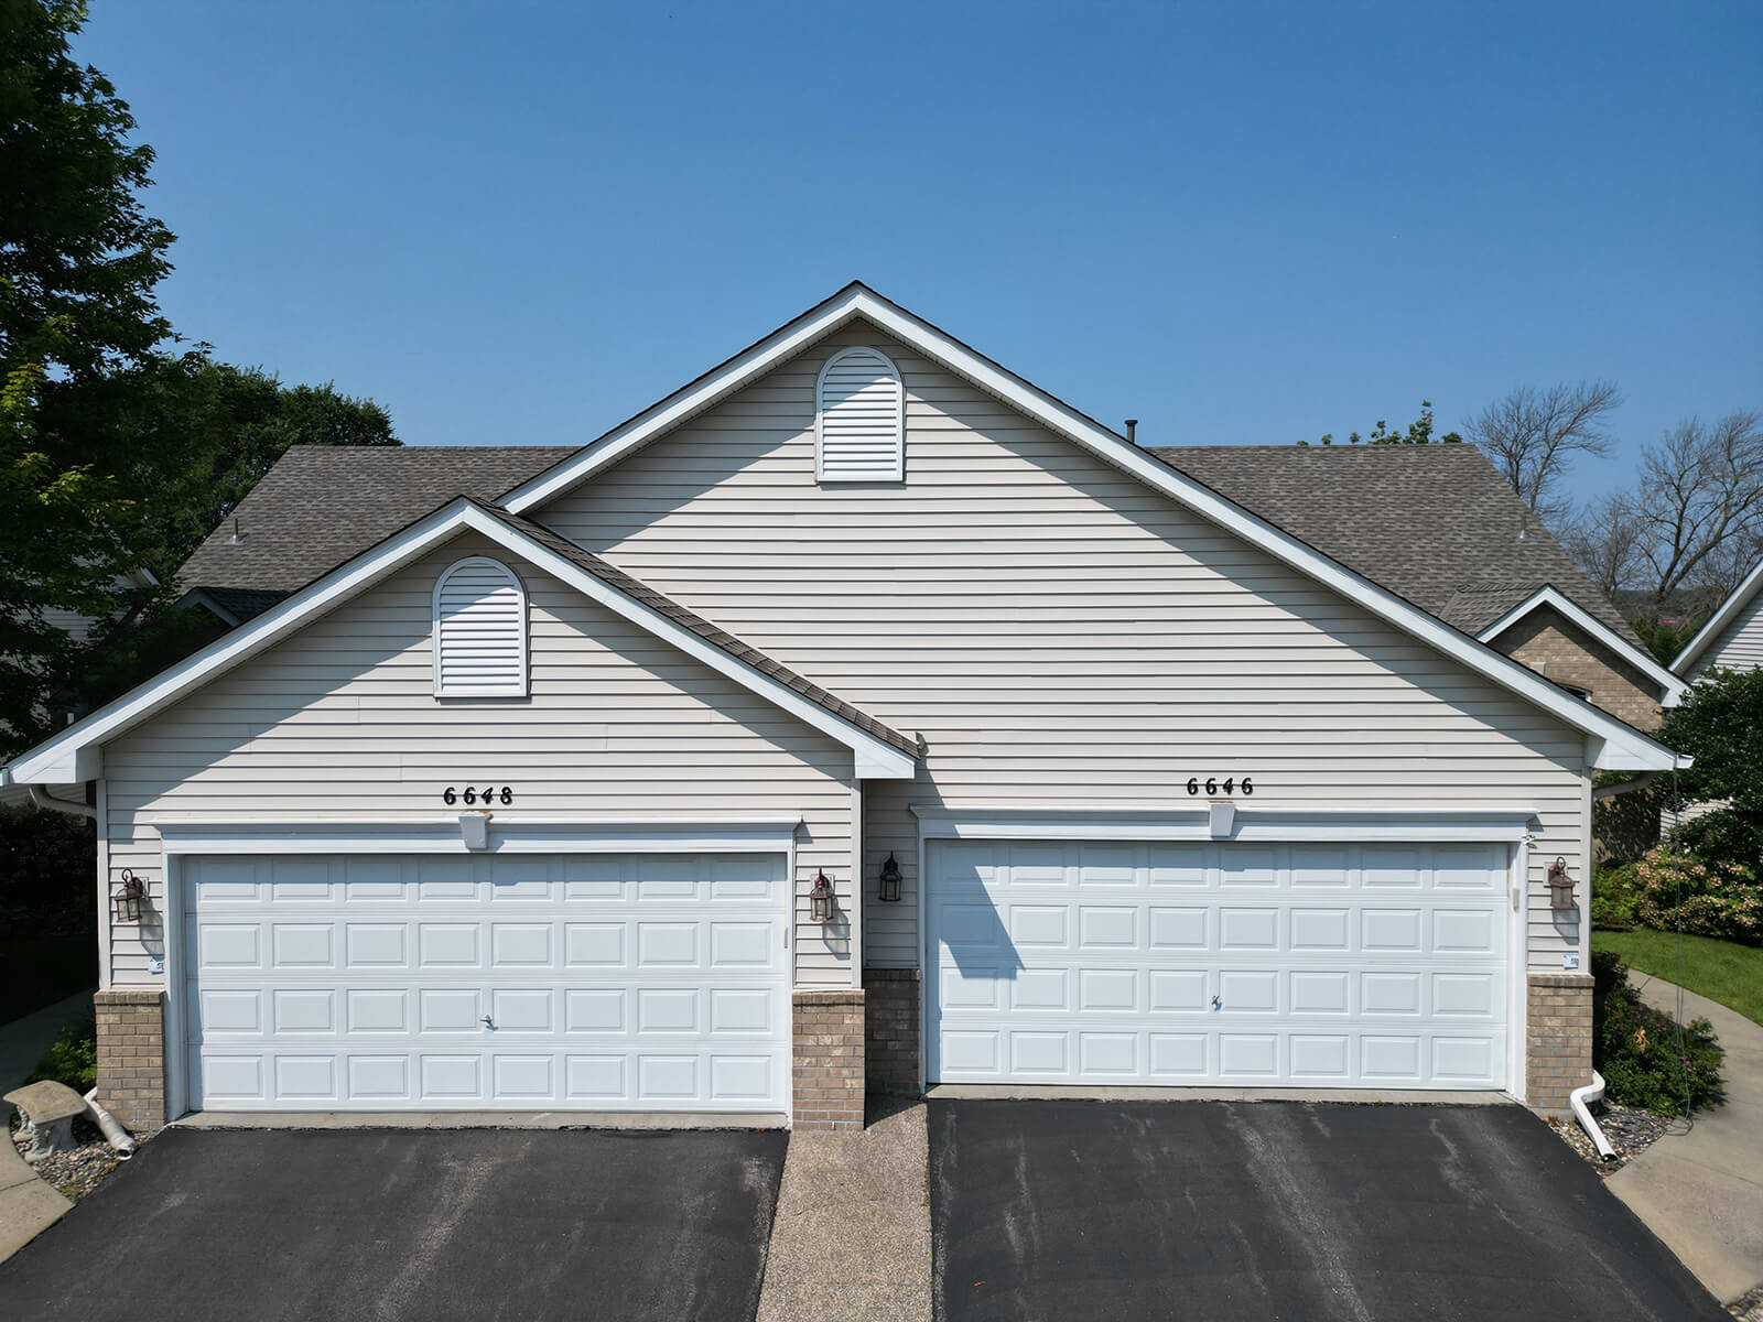
<path fill-rule="evenodd" d="M 1313 546 L 1299 541 L 1289 532 L 1275 527 L 1268 520 L 1252 515 L 1248 509 L 1232 504 L 1209 486 L 1204 486 L 1167 464 L 1146 455 L 1130 444 L 1123 435 L 1102 427 L 1093 418 L 1086 418 L 1077 409 L 1056 400 L 1044 390 L 1031 386 L 1019 375 L 1007 372 L 996 363 L 982 358 L 957 344 L 934 326 L 920 321 L 901 307 L 889 303 L 880 294 L 864 287 L 844 289 L 820 307 L 809 310 L 797 321 L 772 331 L 753 345 L 748 353 L 730 360 L 719 370 L 705 375 L 693 386 L 661 400 L 647 412 L 638 414 L 622 427 L 614 428 L 598 441 L 589 442 L 580 455 L 564 460 L 550 472 L 543 472 L 524 486 L 517 486 L 502 504 L 515 513 L 531 509 L 564 490 L 585 481 L 592 474 L 617 464 L 624 455 L 647 444 L 658 434 L 679 421 L 700 412 L 740 386 L 765 374 L 799 349 L 813 344 L 822 335 L 836 330 L 852 317 L 866 317 L 876 326 L 894 335 L 903 344 L 910 344 L 919 353 L 941 363 L 950 372 L 966 377 L 980 390 L 989 391 L 1005 404 L 1019 409 L 1051 432 L 1082 446 L 1098 458 L 1114 464 L 1123 472 L 1132 474 L 1146 486 L 1158 490 L 1218 527 L 1262 548 L 1275 559 L 1283 561 L 1299 573 L 1308 575 L 1324 587 L 1333 589 L 1349 601 L 1356 601 L 1373 615 L 1395 624 L 1425 643 L 1439 649 L 1446 656 L 1462 661 L 1470 670 L 1491 679 L 1495 684 L 1511 689 L 1527 702 L 1541 707 L 1551 716 L 1566 721 L 1588 735 L 1599 735 L 1606 742 L 1640 737 L 1631 726 L 1599 710 L 1588 702 L 1564 693 L 1550 684 L 1529 666 L 1500 656 L 1491 647 L 1469 638 L 1453 629 L 1435 615 L 1426 613 L 1395 592 L 1389 592 L 1352 569 L 1331 561 Z M 1666 770 L 1671 767 L 1670 749 L 1645 740 L 1654 749 L 1648 767 Z M 1645 770 L 1645 769 L 1643 769 Z"/>

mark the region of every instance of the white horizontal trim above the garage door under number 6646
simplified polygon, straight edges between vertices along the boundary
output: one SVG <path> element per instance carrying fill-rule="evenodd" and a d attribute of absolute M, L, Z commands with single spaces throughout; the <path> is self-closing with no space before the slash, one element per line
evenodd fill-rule
<path fill-rule="evenodd" d="M 1209 841 L 1211 806 L 1199 807 L 973 807 L 911 806 L 920 839 L 971 841 Z M 1313 809 L 1245 807 L 1227 839 L 1276 841 L 1521 841 L 1536 830 L 1523 809 L 1465 813 L 1440 806 L 1403 813 L 1319 813 Z"/>

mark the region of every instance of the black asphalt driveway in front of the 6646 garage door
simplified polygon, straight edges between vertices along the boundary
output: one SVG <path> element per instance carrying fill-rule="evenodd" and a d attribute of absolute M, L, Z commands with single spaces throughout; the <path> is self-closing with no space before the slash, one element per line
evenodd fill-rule
<path fill-rule="evenodd" d="M 936 1315 L 1726 1322 L 1523 1107 L 929 1103 Z"/>

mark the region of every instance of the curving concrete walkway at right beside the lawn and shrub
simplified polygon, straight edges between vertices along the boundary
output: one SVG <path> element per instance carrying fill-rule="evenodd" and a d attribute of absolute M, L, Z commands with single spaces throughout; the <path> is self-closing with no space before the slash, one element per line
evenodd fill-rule
<path fill-rule="evenodd" d="M 1655 1010 L 1678 1014 L 1678 987 L 1638 969 L 1629 982 Z M 1707 1019 L 1726 1047 L 1726 1103 L 1698 1112 L 1606 1181 L 1721 1303 L 1763 1281 L 1763 1026 L 1682 992 L 1684 1017 Z"/>

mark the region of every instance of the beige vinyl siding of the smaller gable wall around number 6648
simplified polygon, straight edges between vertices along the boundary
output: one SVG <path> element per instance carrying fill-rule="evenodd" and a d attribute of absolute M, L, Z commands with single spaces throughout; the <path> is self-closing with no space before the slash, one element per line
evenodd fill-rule
<path fill-rule="evenodd" d="M 430 592 L 462 555 L 494 555 L 525 583 L 529 700 L 434 696 Z M 811 922 L 802 883 L 818 867 L 850 880 L 850 749 L 476 534 L 215 679 L 104 760 L 109 865 L 148 876 L 160 915 L 159 814 L 444 821 L 462 809 L 441 791 L 467 783 L 513 786 L 515 804 L 494 809 L 504 821 L 800 814 L 797 980 L 852 980 L 848 940 Z M 162 943 L 153 924 L 115 927 L 115 982 L 152 982 Z"/>

